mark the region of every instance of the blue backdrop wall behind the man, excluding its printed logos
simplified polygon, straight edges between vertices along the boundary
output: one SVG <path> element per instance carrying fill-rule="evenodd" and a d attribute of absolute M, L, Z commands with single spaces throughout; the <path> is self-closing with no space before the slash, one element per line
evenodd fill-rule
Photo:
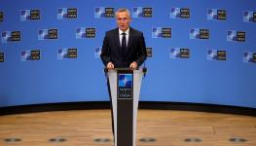
<path fill-rule="evenodd" d="M 12 0 L 1 1 L 0 107 L 72 101 L 105 101 L 106 80 L 96 48 L 115 18 L 96 18 L 96 8 L 152 8 L 152 18 L 132 18 L 142 31 L 152 57 L 146 61 L 143 101 L 211 103 L 256 108 L 256 63 L 244 53 L 256 53 L 253 0 Z M 77 18 L 58 19 L 59 8 L 76 8 Z M 190 9 L 190 18 L 170 18 L 171 8 Z M 208 9 L 226 10 L 227 18 L 208 19 Z M 21 20 L 22 10 L 40 10 L 40 19 Z M 63 9 L 62 9 L 63 10 Z M 78 28 L 95 28 L 95 38 L 76 38 Z M 171 28 L 171 38 L 153 38 L 156 27 Z M 39 30 L 57 28 L 55 40 L 38 40 Z M 191 39 L 193 28 L 209 30 L 209 39 Z M 227 41 L 229 30 L 246 32 L 246 41 Z M 5 42 L 3 33 L 20 31 L 20 41 Z M 77 58 L 58 59 L 58 50 L 76 48 Z M 172 48 L 190 49 L 189 58 L 170 58 Z M 21 60 L 21 52 L 40 50 L 40 60 Z M 208 50 L 226 51 L 226 60 L 207 59 Z"/>

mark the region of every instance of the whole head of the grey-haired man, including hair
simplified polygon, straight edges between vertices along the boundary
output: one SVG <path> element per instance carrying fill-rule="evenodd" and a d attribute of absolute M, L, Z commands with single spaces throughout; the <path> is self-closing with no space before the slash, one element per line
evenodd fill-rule
<path fill-rule="evenodd" d="M 121 8 L 116 12 L 116 19 L 118 27 L 122 31 L 128 30 L 129 22 L 130 22 L 130 13 L 128 9 Z"/>

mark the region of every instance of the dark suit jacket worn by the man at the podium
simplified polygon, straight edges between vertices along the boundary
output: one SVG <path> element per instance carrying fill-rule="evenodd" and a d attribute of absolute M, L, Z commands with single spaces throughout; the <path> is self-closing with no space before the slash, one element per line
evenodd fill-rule
<path fill-rule="evenodd" d="M 132 61 L 140 66 L 147 57 L 143 33 L 129 27 L 128 47 L 124 51 L 120 45 L 119 28 L 107 31 L 100 57 L 105 66 L 112 62 L 115 68 L 127 68 Z"/>

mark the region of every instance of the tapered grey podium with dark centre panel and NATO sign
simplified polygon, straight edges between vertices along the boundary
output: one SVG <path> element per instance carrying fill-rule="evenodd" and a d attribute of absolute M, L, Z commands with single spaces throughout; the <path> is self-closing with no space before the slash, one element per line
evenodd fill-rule
<path fill-rule="evenodd" d="M 135 146 L 139 92 L 146 68 L 106 72 L 112 97 L 115 146 Z"/>

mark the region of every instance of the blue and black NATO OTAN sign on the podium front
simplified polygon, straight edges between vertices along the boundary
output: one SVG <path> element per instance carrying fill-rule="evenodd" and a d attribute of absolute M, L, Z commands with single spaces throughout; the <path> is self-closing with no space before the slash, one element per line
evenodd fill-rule
<path fill-rule="evenodd" d="M 132 74 L 118 74 L 118 98 L 132 99 Z"/>

